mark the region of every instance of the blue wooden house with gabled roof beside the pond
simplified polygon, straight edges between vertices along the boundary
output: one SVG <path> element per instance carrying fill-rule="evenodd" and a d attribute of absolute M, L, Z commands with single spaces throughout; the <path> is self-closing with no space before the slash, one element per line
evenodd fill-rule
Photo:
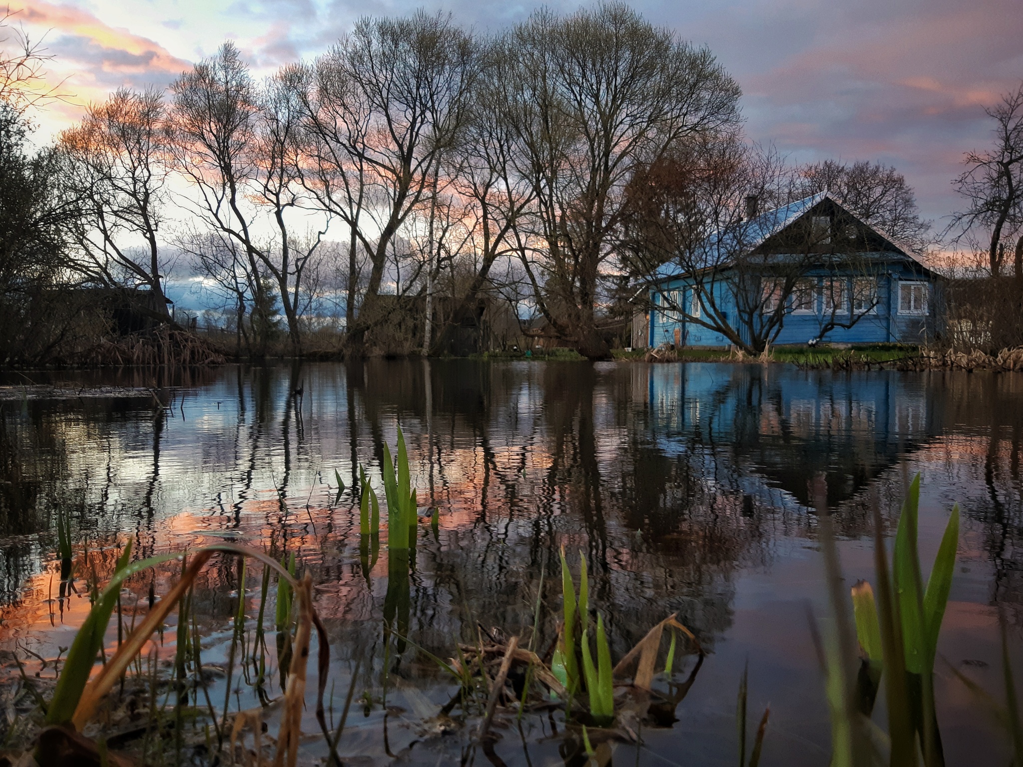
<path fill-rule="evenodd" d="M 727 347 L 722 323 L 744 343 L 760 333 L 771 345 L 934 336 L 939 276 L 827 191 L 766 213 L 751 197 L 746 213 L 739 228 L 702 245 L 708 266 L 656 271 L 634 346 Z"/>

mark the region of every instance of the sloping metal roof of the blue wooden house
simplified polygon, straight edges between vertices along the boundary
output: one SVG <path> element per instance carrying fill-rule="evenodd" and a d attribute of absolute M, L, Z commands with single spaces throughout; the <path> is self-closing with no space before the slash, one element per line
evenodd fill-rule
<path fill-rule="evenodd" d="M 876 226 L 872 226 L 871 224 L 862 221 L 858 216 L 851 213 L 845 206 L 843 206 L 840 200 L 833 197 L 828 190 L 811 194 L 810 196 L 803 197 L 802 199 L 797 199 L 789 202 L 788 205 L 782 206 L 781 208 L 775 208 L 772 211 L 766 211 L 756 218 L 743 222 L 740 226 L 733 229 L 718 231 L 712 234 L 700 246 L 704 252 L 704 261 L 707 266 L 715 264 L 720 265 L 727 261 L 733 254 L 741 252 L 749 253 L 757 247 L 760 247 L 769 237 L 772 237 L 794 224 L 826 199 L 830 199 L 833 204 L 841 208 L 847 216 L 855 219 L 862 226 L 866 227 L 879 237 L 884 239 L 894 252 L 904 258 L 917 261 L 917 259 L 911 256 L 905 247 L 901 246 L 893 237 L 885 234 Z M 917 263 L 919 264 L 920 262 L 917 261 Z M 923 264 L 921 264 L 921 266 L 927 269 L 927 267 Z M 680 277 L 683 273 L 684 270 L 682 270 L 677 263 L 669 261 L 662 264 L 655 270 L 654 280 L 660 281 L 663 279 Z"/>

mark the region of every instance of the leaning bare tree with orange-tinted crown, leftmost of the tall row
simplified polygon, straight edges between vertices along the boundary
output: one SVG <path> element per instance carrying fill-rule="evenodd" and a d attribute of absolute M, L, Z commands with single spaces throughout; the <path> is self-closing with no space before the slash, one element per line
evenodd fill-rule
<path fill-rule="evenodd" d="M 146 285 L 152 309 L 168 320 L 161 277 L 161 234 L 169 174 L 163 95 L 119 89 L 60 134 L 69 159 L 65 188 L 81 214 L 76 240 L 101 278 Z M 142 247 L 138 247 L 138 243 Z"/>

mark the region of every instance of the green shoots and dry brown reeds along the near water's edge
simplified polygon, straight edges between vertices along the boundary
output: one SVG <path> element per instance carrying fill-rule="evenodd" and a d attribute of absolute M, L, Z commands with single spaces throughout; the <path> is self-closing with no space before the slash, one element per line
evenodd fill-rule
<path fill-rule="evenodd" d="M 437 684 L 451 692 L 436 709 L 419 707 L 418 737 L 454 737 L 463 763 L 480 750 L 501 764 L 495 753 L 500 737 L 492 728 L 517 722 L 521 730 L 523 717 L 553 722 L 557 715 L 566 764 L 587 767 L 609 764 L 613 743 L 640 745 L 649 730 L 677 721 L 678 705 L 713 656 L 673 614 L 625 655 L 613 658 L 605 616 L 614 605 L 591 598 L 582 551 L 575 566 L 575 552 L 561 548 L 560 610 L 545 604 L 541 578 L 531 625 L 463 626 L 462 636 L 452 637 L 447 658 L 419 646 L 410 623 L 415 551 L 442 544 L 438 509 L 428 507 L 420 516 L 400 430 L 393 459 L 385 445 L 381 477 L 383 499 L 364 469 L 358 488 L 346 488 L 338 477 L 339 499 L 348 490 L 351 512 L 359 520 L 353 566 L 361 568 L 368 584 L 380 578 L 372 571 L 382 546 L 387 558 L 386 596 L 376 605 L 383 619 L 383 662 L 369 659 L 360 676 L 360 659 L 350 681 L 342 680 L 340 687 L 332 679 L 330 634 L 317 615 L 311 576 L 300 572 L 294 550 L 262 551 L 222 542 L 187 554 L 171 551 L 139 559 L 133 558 L 128 541 L 110 550 L 106 565 L 113 575 L 101 587 L 96 562 L 88 561 L 88 547 L 76 546 L 70 522 L 58 518 L 60 593 L 77 588 L 78 580 L 91 593 L 92 607 L 62 660 L 52 660 L 47 671 L 50 660 L 38 659 L 45 676 L 30 676 L 25 667 L 32 659 L 13 652 L 17 671 L 8 682 L 17 687 L 12 706 L 18 716 L 7 725 L 0 765 L 295 765 L 301 755 L 304 763 L 315 758 L 340 766 L 352 759 L 341 755 L 347 751 L 346 721 L 360 683 L 366 688 L 356 707 L 364 717 L 373 710 L 384 713 L 383 743 L 393 756 L 387 713 L 402 690 L 398 668 L 403 659 L 433 669 Z M 959 507 L 951 510 L 925 579 L 917 544 L 920 477 L 906 489 L 890 554 L 878 501 L 872 501 L 874 583 L 859 581 L 850 589 L 843 580 L 821 478 L 813 489 L 829 606 L 824 616 L 808 613 L 804 630 L 816 646 L 831 713 L 831 764 L 943 767 L 933 679 L 955 572 Z M 162 598 L 157 600 L 149 586 L 147 610 L 124 603 L 125 593 L 138 591 L 139 583 L 144 588 L 152 583 L 154 570 L 168 568 L 177 578 Z M 219 655 L 211 652 L 211 637 L 199 628 L 205 618 L 199 579 L 210 568 L 238 573 L 229 649 Z M 107 638 L 112 622 L 116 644 Z M 953 672 L 978 703 L 991 708 L 1018 764 L 1023 728 L 1005 637 L 1003 619 L 1005 704 Z M 314 648 L 315 681 L 307 668 Z M 751 737 L 748 667 L 738 683 L 740 764 L 757 767 L 770 737 L 770 709 Z M 248 708 L 238 696 L 241 689 Z M 343 708 L 336 706 L 339 689 Z M 876 714 L 879 694 L 885 706 Z"/>

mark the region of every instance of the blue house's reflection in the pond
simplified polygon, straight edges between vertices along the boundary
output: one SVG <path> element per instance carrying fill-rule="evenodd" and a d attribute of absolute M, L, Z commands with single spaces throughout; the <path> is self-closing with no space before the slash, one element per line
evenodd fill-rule
<path fill-rule="evenodd" d="M 703 455 L 708 471 L 722 459 L 742 464 L 744 492 L 775 507 L 808 505 L 807 479 L 821 472 L 829 502 L 846 500 L 940 433 L 923 381 L 895 371 L 681 364 L 646 372 L 659 447 Z"/>

